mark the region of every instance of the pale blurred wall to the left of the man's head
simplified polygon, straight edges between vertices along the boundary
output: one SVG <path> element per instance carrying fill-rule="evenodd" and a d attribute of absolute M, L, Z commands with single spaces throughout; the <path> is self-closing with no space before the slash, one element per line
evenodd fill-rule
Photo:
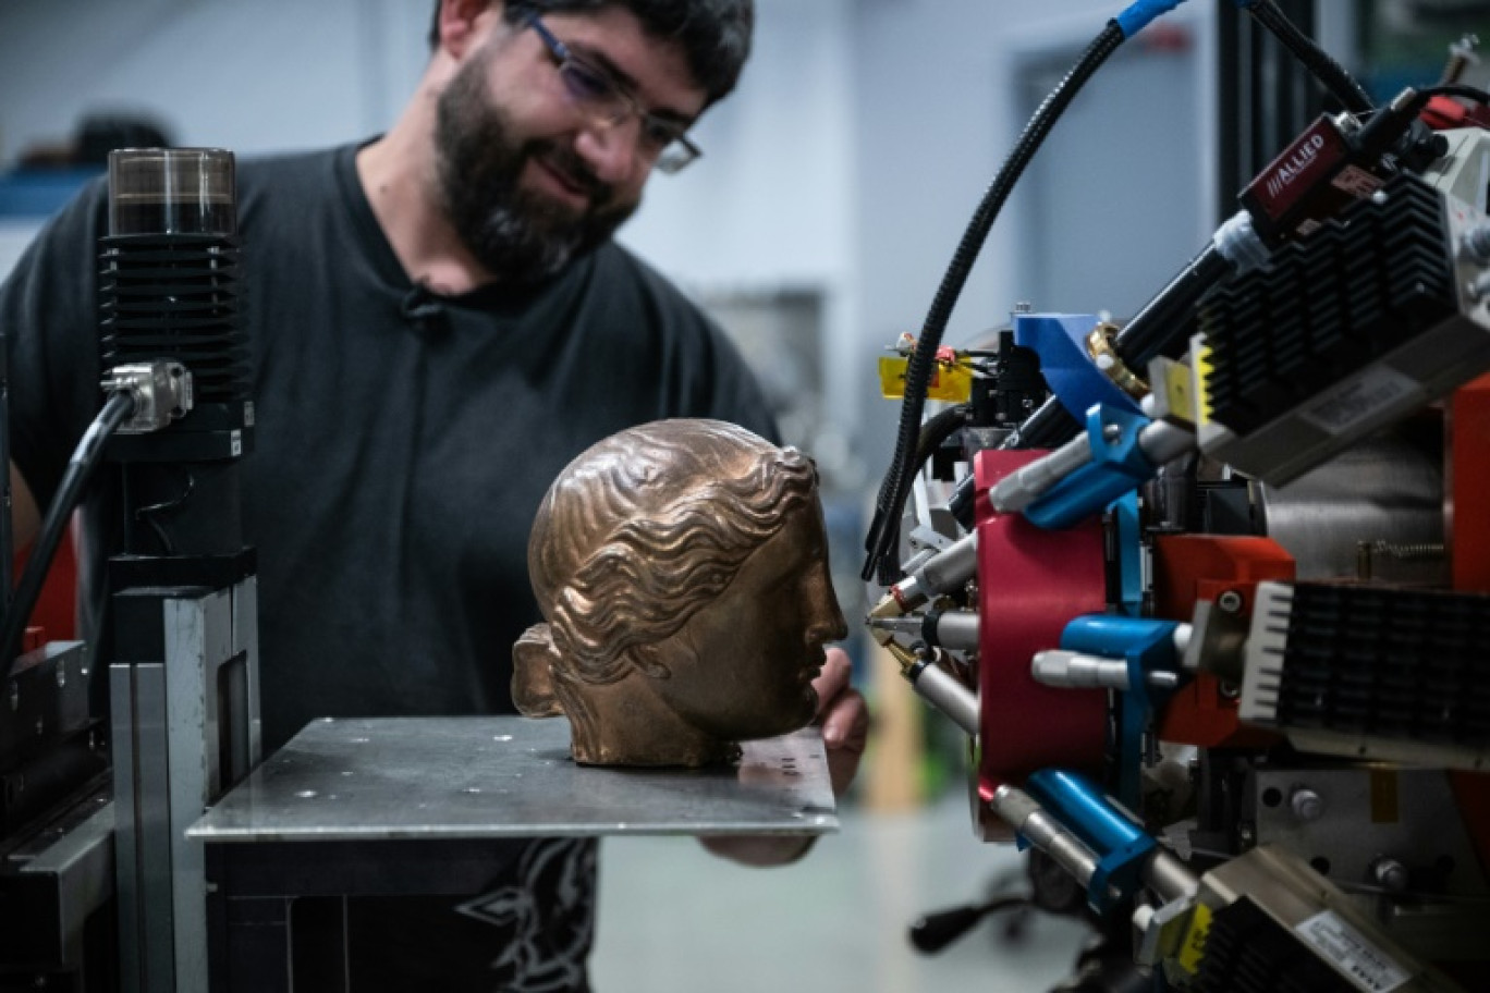
<path fill-rule="evenodd" d="M 417 0 L 4 0 L 0 159 L 118 107 L 244 155 L 362 137 L 411 88 L 426 18 Z"/>

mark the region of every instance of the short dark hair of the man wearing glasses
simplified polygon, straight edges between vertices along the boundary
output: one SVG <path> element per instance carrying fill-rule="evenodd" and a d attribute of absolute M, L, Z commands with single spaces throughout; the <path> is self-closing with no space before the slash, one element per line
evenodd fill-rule
<path fill-rule="evenodd" d="M 749 57 L 754 0 L 508 0 L 502 19 L 522 24 L 533 13 L 584 12 L 617 6 L 630 10 L 642 28 L 673 39 L 688 60 L 688 71 L 709 103 L 726 97 Z M 429 27 L 429 51 L 440 46 L 440 0 Z"/>

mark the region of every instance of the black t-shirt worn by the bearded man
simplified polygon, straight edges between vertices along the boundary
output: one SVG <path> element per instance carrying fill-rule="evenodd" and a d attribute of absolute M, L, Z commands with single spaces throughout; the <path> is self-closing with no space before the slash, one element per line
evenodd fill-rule
<path fill-rule="evenodd" d="M 536 289 L 416 290 L 355 155 L 238 170 L 256 409 L 241 478 L 267 750 L 322 715 L 511 712 L 511 648 L 538 619 L 527 534 L 560 469 L 665 417 L 775 433 L 718 329 L 614 243 Z M 97 183 L 0 287 L 12 457 L 43 509 L 101 405 L 104 228 Z M 88 578 L 113 551 L 109 505 L 95 487 Z M 97 588 L 85 581 L 85 615 Z"/>

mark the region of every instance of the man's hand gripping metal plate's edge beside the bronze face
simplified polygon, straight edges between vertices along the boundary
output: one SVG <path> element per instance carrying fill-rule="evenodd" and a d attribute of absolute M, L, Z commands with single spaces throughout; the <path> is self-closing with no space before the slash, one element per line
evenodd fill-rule
<path fill-rule="evenodd" d="M 812 680 L 818 691 L 818 716 L 814 724 L 822 728 L 822 743 L 828 753 L 828 779 L 833 782 L 833 796 L 840 798 L 858 773 L 869 741 L 869 706 L 863 694 L 849 685 L 852 664 L 840 648 L 830 648 L 822 671 Z M 815 841 L 808 838 L 779 838 L 766 835 L 736 835 L 700 838 L 703 847 L 714 855 L 745 865 L 785 865 L 796 862 Z"/>

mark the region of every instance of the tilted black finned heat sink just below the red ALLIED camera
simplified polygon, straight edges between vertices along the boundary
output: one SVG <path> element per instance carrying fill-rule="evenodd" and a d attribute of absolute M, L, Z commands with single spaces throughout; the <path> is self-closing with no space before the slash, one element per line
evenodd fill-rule
<path fill-rule="evenodd" d="M 1201 304 L 1214 420 L 1247 435 L 1457 313 L 1442 197 L 1381 194 Z"/>

